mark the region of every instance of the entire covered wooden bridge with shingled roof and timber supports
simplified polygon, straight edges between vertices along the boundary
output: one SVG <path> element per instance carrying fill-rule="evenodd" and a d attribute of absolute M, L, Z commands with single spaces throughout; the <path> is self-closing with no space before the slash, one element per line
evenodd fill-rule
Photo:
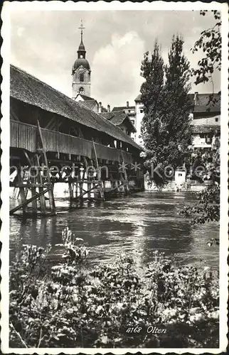
<path fill-rule="evenodd" d="M 76 200 L 104 200 L 107 182 L 110 193 L 143 187 L 142 148 L 100 114 L 13 65 L 10 95 L 11 185 L 21 198 L 11 214 L 55 214 L 55 182 Z"/>

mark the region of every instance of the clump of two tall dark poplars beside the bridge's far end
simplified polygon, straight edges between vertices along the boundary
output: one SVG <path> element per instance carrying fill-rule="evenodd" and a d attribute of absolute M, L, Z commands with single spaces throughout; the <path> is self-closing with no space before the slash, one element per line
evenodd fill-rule
<path fill-rule="evenodd" d="M 187 147 L 191 143 L 191 127 L 188 100 L 190 89 L 189 63 L 183 55 L 183 40 L 179 36 L 172 39 L 169 51 L 169 65 L 164 65 L 158 43 L 154 51 L 144 55 L 142 61 L 142 138 L 146 148 L 147 168 L 156 167 L 152 176 L 158 185 L 169 179 L 166 166 L 176 168 L 183 163 Z M 172 170 L 171 170 L 172 171 Z"/>

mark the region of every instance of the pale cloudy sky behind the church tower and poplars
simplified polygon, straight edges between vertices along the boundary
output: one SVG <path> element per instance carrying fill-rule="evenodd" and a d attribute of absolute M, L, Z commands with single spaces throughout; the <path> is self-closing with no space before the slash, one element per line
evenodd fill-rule
<path fill-rule="evenodd" d="M 11 64 L 71 97 L 81 19 L 91 97 L 104 107 L 134 105 L 143 81 L 141 62 L 156 39 L 167 62 L 172 35 L 182 35 L 184 53 L 197 67 L 203 53 L 192 54 L 191 47 L 215 23 L 211 13 L 199 11 L 11 11 Z M 213 82 L 220 91 L 219 73 Z M 191 83 L 191 92 L 212 92 L 212 84 Z"/>

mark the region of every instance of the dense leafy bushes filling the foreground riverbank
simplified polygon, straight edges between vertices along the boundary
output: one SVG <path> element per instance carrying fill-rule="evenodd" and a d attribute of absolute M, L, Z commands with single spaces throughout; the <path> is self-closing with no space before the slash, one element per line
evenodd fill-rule
<path fill-rule="evenodd" d="M 124 255 L 85 271 L 85 247 L 64 246 L 59 265 L 50 266 L 49 248 L 25 246 L 11 266 L 11 347 L 218 346 L 218 275 L 209 268 L 179 267 L 155 251 L 141 272 Z"/>

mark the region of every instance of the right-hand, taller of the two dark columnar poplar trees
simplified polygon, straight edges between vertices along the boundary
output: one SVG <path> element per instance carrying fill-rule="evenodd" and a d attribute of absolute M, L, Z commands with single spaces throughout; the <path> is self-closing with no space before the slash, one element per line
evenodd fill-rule
<path fill-rule="evenodd" d="M 188 97 L 191 89 L 190 70 L 189 62 L 183 54 L 183 39 L 179 35 L 172 38 L 169 64 L 166 65 L 165 72 L 164 121 L 167 127 L 167 143 L 176 151 L 171 151 L 176 154 L 173 154 L 175 159 L 170 154 L 170 163 L 177 165 L 183 161 L 191 144 L 191 101 Z"/>

